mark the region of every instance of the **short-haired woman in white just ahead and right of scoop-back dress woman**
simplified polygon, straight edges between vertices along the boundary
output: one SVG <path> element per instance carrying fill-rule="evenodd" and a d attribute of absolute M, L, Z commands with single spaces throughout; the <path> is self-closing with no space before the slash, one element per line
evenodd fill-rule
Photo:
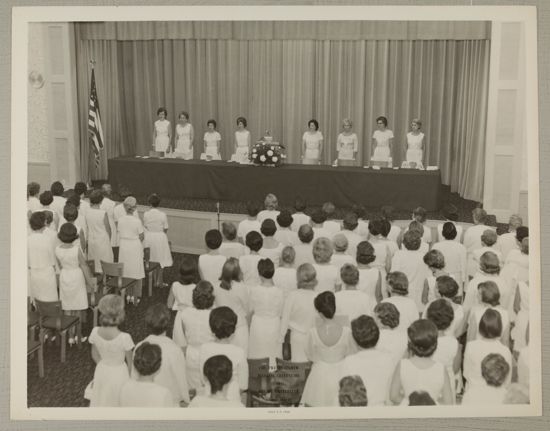
<path fill-rule="evenodd" d="M 345 264 L 340 269 L 342 290 L 336 292 L 336 314 L 346 316 L 348 322 L 365 314 L 372 316 L 376 304 L 365 292 L 357 290 L 359 271 L 355 265 Z"/>

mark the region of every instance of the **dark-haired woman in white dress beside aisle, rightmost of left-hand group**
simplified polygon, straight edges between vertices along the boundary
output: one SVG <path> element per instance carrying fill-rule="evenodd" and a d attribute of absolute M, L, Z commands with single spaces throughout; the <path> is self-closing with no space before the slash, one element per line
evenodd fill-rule
<path fill-rule="evenodd" d="M 143 213 L 143 227 L 145 228 L 145 244 L 150 250 L 151 262 L 160 263 L 160 269 L 157 272 L 156 286 L 168 286 L 164 283 L 164 268 L 173 264 L 170 244 L 168 243 L 168 217 L 158 209 L 160 198 L 156 193 L 149 196 L 149 205 L 151 209 Z"/>

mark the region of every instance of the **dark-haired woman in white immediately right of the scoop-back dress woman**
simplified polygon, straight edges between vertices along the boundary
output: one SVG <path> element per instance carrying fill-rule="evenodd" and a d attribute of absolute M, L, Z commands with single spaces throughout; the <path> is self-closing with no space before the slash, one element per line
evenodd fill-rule
<path fill-rule="evenodd" d="M 351 334 L 359 351 L 344 359 L 341 376 L 360 376 L 369 390 L 369 405 L 384 405 L 395 367 L 391 355 L 377 348 L 378 326 L 372 317 L 359 316 L 351 322 Z"/>

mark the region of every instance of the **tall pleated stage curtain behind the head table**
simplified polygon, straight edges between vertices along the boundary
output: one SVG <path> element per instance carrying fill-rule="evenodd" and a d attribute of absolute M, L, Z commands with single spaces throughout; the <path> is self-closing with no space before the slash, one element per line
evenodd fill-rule
<path fill-rule="evenodd" d="M 181 110 L 195 129 L 195 157 L 206 122 L 222 135 L 222 158 L 234 151 L 235 120 L 244 116 L 252 139 L 270 130 L 299 163 L 302 135 L 315 118 L 325 137 L 323 162 L 336 158 L 343 118 L 353 121 L 358 165 L 372 155 L 375 119 L 395 134 L 394 164 L 405 156 L 413 118 L 426 134 L 429 165 L 467 199 L 482 199 L 489 70 L 487 40 L 153 40 L 78 41 L 82 164 L 107 178 L 105 159 L 147 154 L 156 110 L 175 125 Z M 96 170 L 86 137 L 89 60 L 104 122 L 106 152 Z"/>

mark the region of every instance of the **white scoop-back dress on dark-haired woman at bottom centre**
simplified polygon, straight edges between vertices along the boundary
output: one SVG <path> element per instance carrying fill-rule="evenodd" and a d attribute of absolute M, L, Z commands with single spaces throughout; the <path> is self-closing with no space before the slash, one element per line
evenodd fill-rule
<path fill-rule="evenodd" d="M 342 374 L 344 358 L 350 350 L 350 329 L 342 328 L 340 339 L 327 346 L 319 338 L 317 328 L 309 331 L 306 356 L 313 362 L 306 380 L 300 404 L 312 407 L 335 406 L 334 394 L 338 393 L 338 382 Z"/>

